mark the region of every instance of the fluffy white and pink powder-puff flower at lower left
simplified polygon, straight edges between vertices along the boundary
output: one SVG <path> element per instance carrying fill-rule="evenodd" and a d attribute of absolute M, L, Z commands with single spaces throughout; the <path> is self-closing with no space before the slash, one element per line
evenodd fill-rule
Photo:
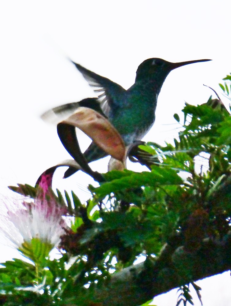
<path fill-rule="evenodd" d="M 60 237 L 67 227 L 62 218 L 67 212 L 65 207 L 61 207 L 55 200 L 39 198 L 32 203 L 25 200 L 9 203 L 8 200 L 5 207 L 7 213 L 0 216 L 0 231 L 5 234 L 7 244 L 16 247 L 26 256 L 28 251 L 31 252 L 30 247 L 35 240 L 44 244 L 49 251 L 58 247 Z"/>

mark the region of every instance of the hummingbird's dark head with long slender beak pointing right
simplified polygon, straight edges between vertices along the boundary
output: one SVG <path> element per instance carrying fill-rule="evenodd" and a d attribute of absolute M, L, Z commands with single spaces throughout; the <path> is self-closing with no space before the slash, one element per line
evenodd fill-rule
<path fill-rule="evenodd" d="M 188 62 L 179 62 L 179 63 L 171 63 L 165 61 L 162 58 L 148 58 L 144 62 L 142 62 L 136 71 L 136 81 L 155 81 L 157 86 L 161 88 L 164 80 L 166 79 L 167 75 L 173 69 L 178 67 L 198 63 L 198 62 L 207 62 L 211 61 L 210 59 L 199 59 L 194 61 Z"/>

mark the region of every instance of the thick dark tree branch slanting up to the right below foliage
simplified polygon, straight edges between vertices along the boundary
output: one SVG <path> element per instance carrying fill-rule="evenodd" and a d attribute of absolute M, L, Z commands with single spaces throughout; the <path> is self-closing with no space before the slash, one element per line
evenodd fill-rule
<path fill-rule="evenodd" d="M 230 234 L 222 241 L 203 240 L 195 252 L 165 244 L 160 256 L 113 274 L 103 287 L 95 289 L 95 302 L 105 306 L 141 305 L 191 281 L 227 271 L 230 247 Z"/>

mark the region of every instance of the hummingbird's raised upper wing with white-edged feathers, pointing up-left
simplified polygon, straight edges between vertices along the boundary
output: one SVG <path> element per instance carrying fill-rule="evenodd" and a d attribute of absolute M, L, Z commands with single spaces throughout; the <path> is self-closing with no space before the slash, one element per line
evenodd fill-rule
<path fill-rule="evenodd" d="M 73 64 L 76 66 L 79 72 L 81 72 L 85 80 L 97 94 L 101 109 L 108 117 L 113 106 L 120 106 L 119 99 L 117 97 L 120 94 L 123 94 L 126 90 L 119 84 L 112 82 L 104 76 L 100 76 L 99 74 L 94 73 L 75 62 L 73 62 Z"/>

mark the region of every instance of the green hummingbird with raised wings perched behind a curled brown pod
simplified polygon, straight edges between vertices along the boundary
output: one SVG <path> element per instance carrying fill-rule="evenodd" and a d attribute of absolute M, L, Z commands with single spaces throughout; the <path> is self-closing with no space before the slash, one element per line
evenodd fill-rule
<path fill-rule="evenodd" d="M 121 135 L 124 144 L 129 146 L 134 141 L 141 140 L 155 122 L 158 95 L 168 74 L 173 69 L 184 65 L 207 61 L 210 59 L 178 63 L 168 62 L 161 58 L 146 59 L 138 66 L 135 83 L 127 90 L 108 78 L 71 61 L 89 83 L 97 98 L 69 103 L 66 104 L 66 107 L 67 109 L 77 108 L 79 105 L 84 106 L 84 103 L 96 105 L 93 107 L 101 109 Z M 55 110 L 57 113 L 62 112 L 62 106 L 53 109 L 53 112 Z M 107 153 L 92 142 L 84 155 L 88 162 L 92 162 L 105 157 Z M 75 171 L 69 168 L 64 177 L 69 177 Z"/>

